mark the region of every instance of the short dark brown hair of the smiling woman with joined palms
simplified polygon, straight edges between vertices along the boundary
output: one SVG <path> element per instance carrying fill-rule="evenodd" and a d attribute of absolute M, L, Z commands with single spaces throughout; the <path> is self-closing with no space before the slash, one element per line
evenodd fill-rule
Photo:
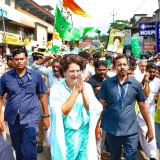
<path fill-rule="evenodd" d="M 72 63 L 75 63 L 75 64 L 79 65 L 80 70 L 84 69 L 84 64 L 83 64 L 84 62 L 83 62 L 83 60 L 81 60 L 79 58 L 78 55 L 66 54 L 60 60 L 60 65 L 61 65 L 61 68 L 62 68 L 62 72 L 65 72 L 69 68 L 69 65 L 72 64 Z"/>

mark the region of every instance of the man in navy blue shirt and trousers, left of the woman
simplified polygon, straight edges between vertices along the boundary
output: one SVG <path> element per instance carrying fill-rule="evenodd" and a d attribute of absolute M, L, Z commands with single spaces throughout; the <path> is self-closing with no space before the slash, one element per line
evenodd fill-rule
<path fill-rule="evenodd" d="M 41 117 L 40 104 L 44 110 L 44 127 L 50 124 L 48 101 L 41 75 L 28 69 L 27 53 L 16 50 L 13 53 L 14 68 L 4 73 L 0 79 L 0 111 L 2 99 L 7 93 L 4 120 L 8 122 L 10 136 L 16 152 L 16 160 L 37 160 L 36 132 Z M 0 119 L 3 131 L 3 120 Z"/>

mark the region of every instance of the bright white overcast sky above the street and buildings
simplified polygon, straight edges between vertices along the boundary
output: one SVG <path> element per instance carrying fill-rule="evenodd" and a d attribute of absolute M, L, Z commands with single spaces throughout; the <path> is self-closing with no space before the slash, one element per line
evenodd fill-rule
<path fill-rule="evenodd" d="M 40 5 L 50 4 L 53 7 L 58 0 L 35 0 Z M 92 18 L 74 17 L 75 26 L 94 26 L 107 31 L 107 27 L 115 20 L 129 20 L 134 14 L 143 13 L 149 16 L 158 9 L 158 0 L 75 0 Z"/>

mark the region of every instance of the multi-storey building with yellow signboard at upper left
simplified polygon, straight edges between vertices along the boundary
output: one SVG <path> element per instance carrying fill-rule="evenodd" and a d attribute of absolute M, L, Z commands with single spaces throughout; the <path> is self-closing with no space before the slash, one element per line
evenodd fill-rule
<path fill-rule="evenodd" d="M 53 33 L 54 16 L 50 5 L 40 6 L 33 0 L 0 1 L 0 52 L 23 45 L 29 39 L 33 46 L 45 49 Z"/>

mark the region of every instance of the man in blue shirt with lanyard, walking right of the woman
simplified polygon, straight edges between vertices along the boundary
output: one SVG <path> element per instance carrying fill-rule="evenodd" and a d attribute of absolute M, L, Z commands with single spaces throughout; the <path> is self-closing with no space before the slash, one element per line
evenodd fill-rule
<path fill-rule="evenodd" d="M 122 145 L 126 160 L 136 160 L 138 143 L 138 123 L 135 102 L 148 127 L 146 137 L 153 139 L 153 130 L 145 104 L 141 84 L 127 76 L 128 59 L 121 55 L 115 58 L 114 67 L 117 75 L 105 80 L 99 93 L 100 102 L 105 106 L 101 126 L 107 132 L 111 160 L 120 160 Z"/>

